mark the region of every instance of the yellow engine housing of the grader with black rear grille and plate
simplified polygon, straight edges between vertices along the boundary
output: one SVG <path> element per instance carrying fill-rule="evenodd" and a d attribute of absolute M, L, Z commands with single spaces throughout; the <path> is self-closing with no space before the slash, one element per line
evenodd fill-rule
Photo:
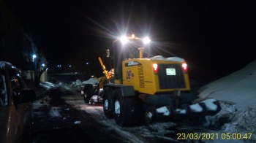
<path fill-rule="evenodd" d="M 163 59 L 132 58 L 122 62 L 122 82 L 132 85 L 135 91 L 154 95 L 190 90 L 189 76 L 182 63 Z M 154 69 L 153 64 L 157 64 Z"/>

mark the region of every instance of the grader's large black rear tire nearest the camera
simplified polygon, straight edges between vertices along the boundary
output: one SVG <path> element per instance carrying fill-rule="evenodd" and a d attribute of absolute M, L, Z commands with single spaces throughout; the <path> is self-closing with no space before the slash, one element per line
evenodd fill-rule
<path fill-rule="evenodd" d="M 116 89 L 114 96 L 114 118 L 120 126 L 135 125 L 135 102 L 132 97 L 121 96 L 121 90 Z"/>

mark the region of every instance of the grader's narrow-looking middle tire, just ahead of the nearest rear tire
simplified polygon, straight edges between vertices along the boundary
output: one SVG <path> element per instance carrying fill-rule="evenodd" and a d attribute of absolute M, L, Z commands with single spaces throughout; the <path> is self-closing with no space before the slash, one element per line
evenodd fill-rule
<path fill-rule="evenodd" d="M 103 96 L 103 111 L 105 117 L 113 119 L 113 90 L 111 88 L 104 88 L 102 91 Z"/>

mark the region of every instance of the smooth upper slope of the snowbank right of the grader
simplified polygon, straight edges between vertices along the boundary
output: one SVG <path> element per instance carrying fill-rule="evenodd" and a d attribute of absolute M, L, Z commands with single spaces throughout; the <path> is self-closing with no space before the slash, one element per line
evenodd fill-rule
<path fill-rule="evenodd" d="M 244 69 L 204 85 L 198 90 L 200 98 L 215 98 L 237 107 L 256 107 L 256 61 Z"/>

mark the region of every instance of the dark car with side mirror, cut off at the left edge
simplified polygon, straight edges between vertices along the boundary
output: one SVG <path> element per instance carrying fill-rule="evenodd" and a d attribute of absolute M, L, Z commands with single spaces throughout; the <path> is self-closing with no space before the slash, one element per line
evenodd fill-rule
<path fill-rule="evenodd" d="M 11 63 L 0 61 L 0 142 L 30 142 L 31 101 L 36 94 L 27 88 Z"/>

